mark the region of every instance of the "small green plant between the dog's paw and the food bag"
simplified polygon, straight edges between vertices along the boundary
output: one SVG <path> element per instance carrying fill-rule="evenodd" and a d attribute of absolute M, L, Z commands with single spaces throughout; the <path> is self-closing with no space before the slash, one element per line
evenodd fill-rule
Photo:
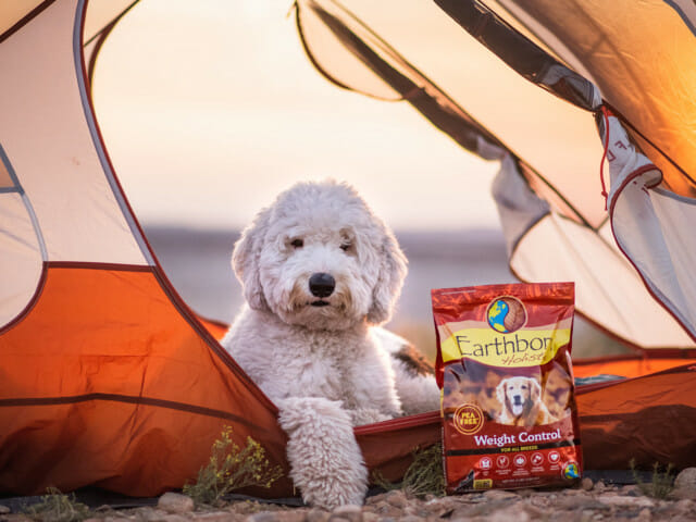
<path fill-rule="evenodd" d="M 415 448 L 413 461 L 400 483 L 387 481 L 382 473 L 372 473 L 372 483 L 386 490 L 403 489 L 410 495 L 423 497 L 427 494 L 445 495 L 445 473 L 443 471 L 443 446 L 435 444 L 425 449 Z"/>

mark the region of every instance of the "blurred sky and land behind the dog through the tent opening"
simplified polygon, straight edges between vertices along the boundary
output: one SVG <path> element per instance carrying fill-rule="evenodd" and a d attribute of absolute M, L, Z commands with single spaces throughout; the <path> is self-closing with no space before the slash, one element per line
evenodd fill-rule
<path fill-rule="evenodd" d="M 496 163 L 406 104 L 328 84 L 298 40 L 290 0 L 141 0 L 97 62 L 94 99 L 117 176 L 173 285 L 232 321 L 239 231 L 297 181 L 353 185 L 410 264 L 388 325 L 428 357 L 431 288 L 509 283 L 489 186 Z M 485 72 L 484 72 L 485 74 Z M 584 322 L 574 353 L 624 348 Z"/>

